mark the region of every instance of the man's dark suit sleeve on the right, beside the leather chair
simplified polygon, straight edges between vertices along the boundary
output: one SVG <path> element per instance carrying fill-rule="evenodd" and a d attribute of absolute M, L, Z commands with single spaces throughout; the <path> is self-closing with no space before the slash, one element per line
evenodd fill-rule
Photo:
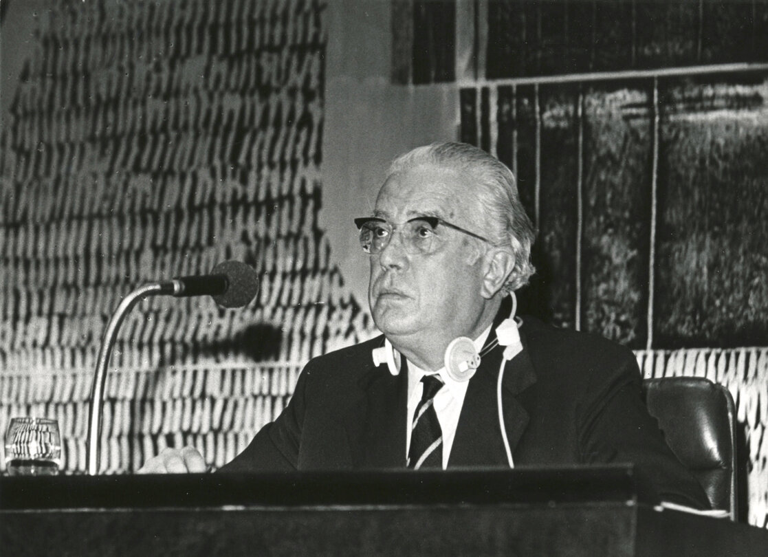
<path fill-rule="evenodd" d="M 703 488 L 664 441 L 647 411 L 641 373 L 624 356 L 611 370 L 593 370 L 582 398 L 581 459 L 586 463 L 633 463 L 662 501 L 709 509 Z"/>

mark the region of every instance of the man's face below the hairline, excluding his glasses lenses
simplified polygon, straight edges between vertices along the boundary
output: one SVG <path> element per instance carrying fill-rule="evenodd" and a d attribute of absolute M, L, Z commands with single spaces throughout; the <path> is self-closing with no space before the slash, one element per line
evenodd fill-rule
<path fill-rule="evenodd" d="M 397 226 L 414 217 L 439 217 L 482 234 L 470 184 L 462 173 L 430 164 L 393 174 L 379 191 L 374 216 L 396 230 L 380 254 L 369 256 L 368 297 L 376 326 L 390 340 L 445 337 L 447 344 L 475 333 L 484 307 L 478 240 L 438 225 L 436 249 L 412 254 Z"/>

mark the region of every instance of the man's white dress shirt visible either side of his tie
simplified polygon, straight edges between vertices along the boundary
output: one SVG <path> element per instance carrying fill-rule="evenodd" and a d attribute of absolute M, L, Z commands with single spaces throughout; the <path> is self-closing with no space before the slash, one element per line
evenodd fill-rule
<path fill-rule="evenodd" d="M 488 333 L 491 332 L 491 326 L 481 333 L 472 342 L 475 344 L 475 349 L 479 352 L 485 344 L 485 339 L 488 338 Z M 413 414 L 416 411 L 416 406 L 419 406 L 419 401 L 422 400 L 422 392 L 424 391 L 424 385 L 422 383 L 422 377 L 425 375 L 438 374 L 440 379 L 443 380 L 445 386 L 435 395 L 435 413 L 437 413 L 437 419 L 440 423 L 440 429 L 442 429 L 442 467 L 443 469 L 448 467 L 448 459 L 451 456 L 451 447 L 453 446 L 453 439 L 456 436 L 456 427 L 458 426 L 458 416 L 462 413 L 462 406 L 464 405 L 464 396 L 467 393 L 467 386 L 469 381 L 456 381 L 448 376 L 445 372 L 445 367 L 441 367 L 436 372 L 428 372 L 422 370 L 420 367 L 415 366 L 411 360 L 408 360 L 408 419 L 406 426 L 406 459 L 408 458 L 408 449 L 411 446 L 411 426 L 413 422 Z"/>

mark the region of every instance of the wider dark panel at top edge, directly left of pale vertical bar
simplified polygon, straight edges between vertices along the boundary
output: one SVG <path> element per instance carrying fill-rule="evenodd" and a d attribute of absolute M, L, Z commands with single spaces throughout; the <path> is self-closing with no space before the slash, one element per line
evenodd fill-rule
<path fill-rule="evenodd" d="M 455 42 L 455 0 L 414 2 L 413 83 L 453 81 Z"/>

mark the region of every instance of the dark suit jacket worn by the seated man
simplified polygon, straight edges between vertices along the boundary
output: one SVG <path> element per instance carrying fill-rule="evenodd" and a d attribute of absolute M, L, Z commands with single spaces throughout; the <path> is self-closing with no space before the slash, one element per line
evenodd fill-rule
<path fill-rule="evenodd" d="M 634 463 L 662 499 L 709 507 L 647 413 L 630 350 L 533 318 L 520 333 L 523 351 L 505 367 L 502 394 L 515 466 Z M 404 468 L 408 374 L 373 365 L 382 343 L 377 337 L 307 363 L 283 413 L 222 470 Z M 449 468 L 507 466 L 496 403 L 501 361 L 497 346 L 469 381 Z"/>

